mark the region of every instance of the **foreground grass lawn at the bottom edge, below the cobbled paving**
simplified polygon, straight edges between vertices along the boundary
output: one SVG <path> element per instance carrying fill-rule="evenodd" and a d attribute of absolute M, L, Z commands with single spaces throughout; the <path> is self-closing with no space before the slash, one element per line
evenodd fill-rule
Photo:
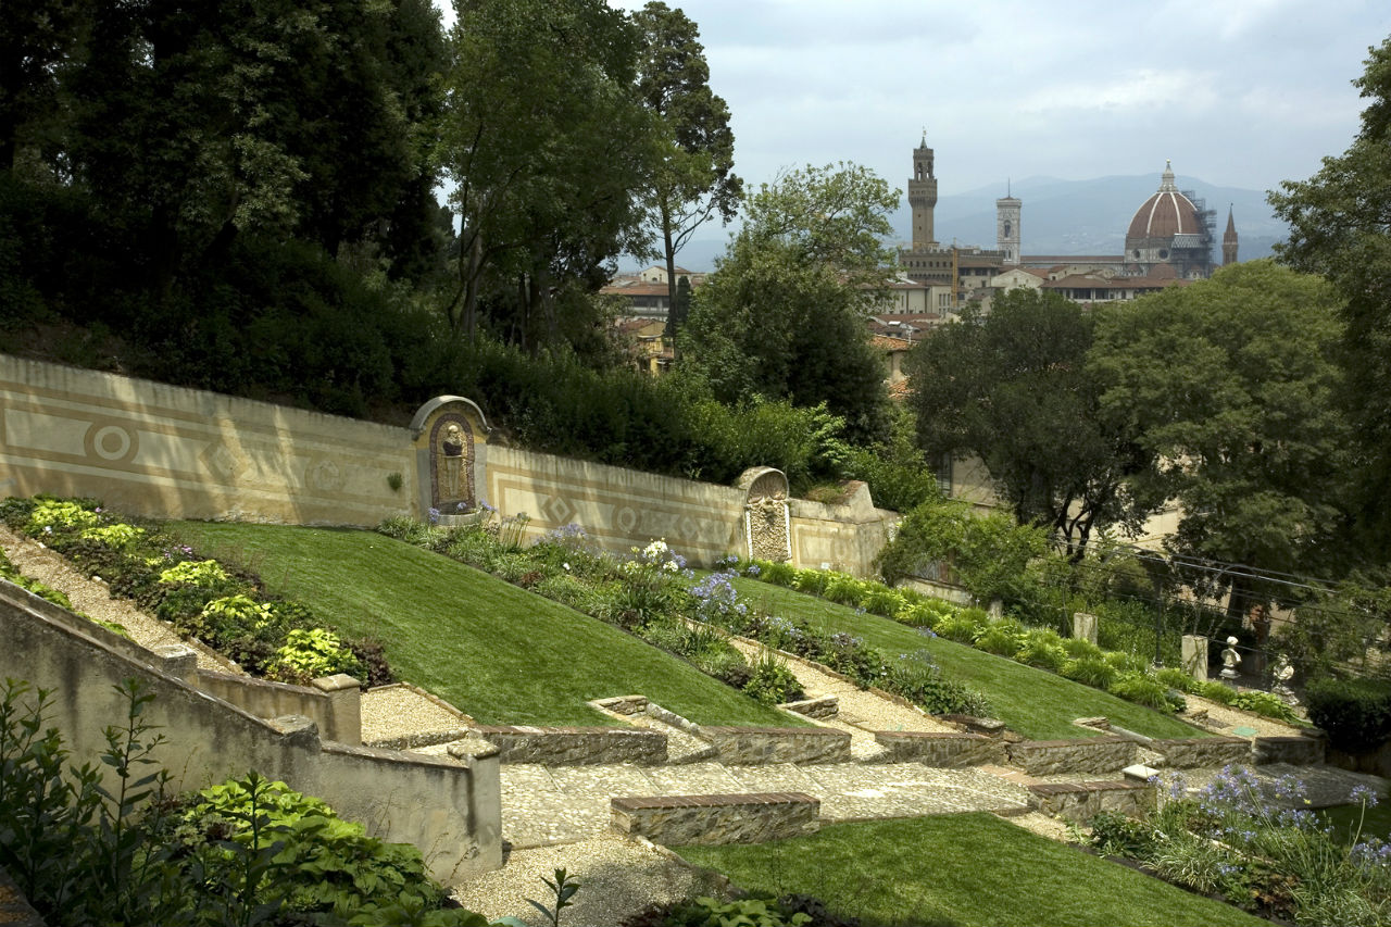
<path fill-rule="evenodd" d="M 817 895 L 867 927 L 1269 927 L 985 813 L 832 824 L 771 843 L 673 849 L 740 888 Z"/>

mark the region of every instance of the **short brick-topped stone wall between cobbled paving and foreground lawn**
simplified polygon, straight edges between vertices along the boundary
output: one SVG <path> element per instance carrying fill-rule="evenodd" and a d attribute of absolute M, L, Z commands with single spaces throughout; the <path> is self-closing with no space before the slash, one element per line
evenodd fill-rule
<path fill-rule="evenodd" d="M 616 831 L 669 845 L 761 843 L 821 827 L 821 802 L 803 792 L 616 798 L 609 814 Z"/>

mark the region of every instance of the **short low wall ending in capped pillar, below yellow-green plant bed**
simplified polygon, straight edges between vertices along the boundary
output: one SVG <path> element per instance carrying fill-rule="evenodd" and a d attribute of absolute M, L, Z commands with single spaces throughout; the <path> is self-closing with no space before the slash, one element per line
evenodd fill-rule
<path fill-rule="evenodd" d="M 362 689 L 346 674 L 314 679 L 313 688 L 207 670 L 199 670 L 189 682 L 257 718 L 302 714 L 313 720 L 325 740 L 362 743 Z"/>

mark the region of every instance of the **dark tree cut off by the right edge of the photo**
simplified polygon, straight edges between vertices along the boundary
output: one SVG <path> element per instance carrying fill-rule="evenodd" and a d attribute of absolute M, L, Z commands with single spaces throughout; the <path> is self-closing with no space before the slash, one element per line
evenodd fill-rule
<path fill-rule="evenodd" d="M 1353 81 L 1370 103 L 1348 150 L 1323 159 L 1308 181 L 1285 181 L 1270 203 L 1289 224 L 1277 258 L 1323 274 L 1345 301 L 1348 383 L 1358 422 L 1356 529 L 1372 547 L 1391 543 L 1391 39 L 1369 49 Z M 1384 560 L 1384 554 L 1383 554 Z"/>

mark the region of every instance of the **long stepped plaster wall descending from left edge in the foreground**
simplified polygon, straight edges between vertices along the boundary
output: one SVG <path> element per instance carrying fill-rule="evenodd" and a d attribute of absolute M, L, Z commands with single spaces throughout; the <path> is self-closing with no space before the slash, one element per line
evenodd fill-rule
<path fill-rule="evenodd" d="M 174 789 L 257 770 L 362 821 L 373 837 L 415 843 L 444 882 L 502 866 L 491 747 L 431 757 L 320 740 L 309 718 L 257 718 L 166 672 L 157 654 L 3 580 L 0 633 L 0 676 L 56 693 L 47 722 L 77 761 L 106 749 L 106 725 L 127 711 L 114 686 L 134 678 L 153 696 L 142 718 L 166 738 L 153 759 Z"/>

